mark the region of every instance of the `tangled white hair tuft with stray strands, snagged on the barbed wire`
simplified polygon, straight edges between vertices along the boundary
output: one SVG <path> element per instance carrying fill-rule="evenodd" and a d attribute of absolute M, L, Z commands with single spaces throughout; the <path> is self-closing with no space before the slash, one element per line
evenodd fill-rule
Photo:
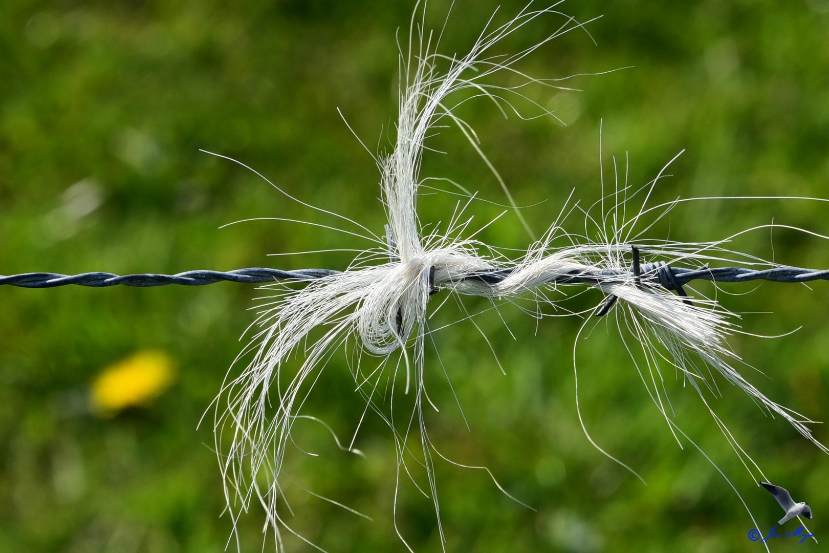
<path fill-rule="evenodd" d="M 504 37 L 520 31 L 539 17 L 563 17 L 563 23 L 544 41 L 524 51 L 511 56 L 492 54 L 493 46 Z M 284 497 L 280 476 L 291 449 L 293 424 L 309 418 L 301 413 L 304 401 L 327 360 L 351 342 L 358 343 L 356 361 L 351 363 L 356 389 L 366 399 L 366 410 L 376 411 L 395 435 L 398 480 L 402 473 L 411 474 L 406 463 L 413 458 L 425 468 L 429 489 L 422 491 L 434 502 L 443 539 L 432 467 L 435 456 L 444 456 L 434 448 L 424 424 L 424 409 L 430 403 L 424 378 L 424 340 L 430 332 L 427 308 L 429 298 L 438 290 L 483 296 L 493 301 L 531 298 L 536 303 L 559 308 L 558 301 L 566 294 L 564 284 L 550 284 L 556 276 L 611 269 L 617 276 L 608 277 L 606 282 L 599 281 L 594 288 L 607 297 L 615 296 L 620 300 L 618 308 L 612 312 L 613 317 L 620 328 L 635 337 L 633 342 L 625 342 L 628 351 L 641 347 L 643 357 L 640 358 L 644 359 L 645 366 L 640 366 L 631 352 L 634 363 L 648 394 L 677 441 L 681 443 L 677 434 L 688 438 L 671 416 L 661 384 L 661 367 L 664 366 L 675 367 L 683 381 L 696 389 L 749 473 L 756 471 L 762 475 L 757 464 L 744 453 L 705 400 L 706 390 L 716 393 L 715 373 L 744 390 L 769 413 L 788 420 L 803 436 L 827 451 L 812 437 L 807 426 L 812 420 L 778 405 L 734 368 L 742 361 L 726 342 L 730 334 L 739 332 L 732 313 L 714 299 L 695 297 L 690 303 L 662 286 L 642 282 L 636 274 L 628 272 L 627 255 L 632 245 L 638 246 L 649 260 L 670 264 L 699 266 L 716 260 L 733 261 L 737 255 L 745 265 L 775 266 L 727 250 L 725 244 L 733 236 L 718 242 L 696 244 L 644 240 L 642 235 L 650 226 L 643 229 L 639 226 L 645 216 L 665 216 L 679 202 L 647 206 L 662 172 L 652 182 L 638 188 L 628 186 L 627 182 L 619 183 L 617 178 L 613 192 L 604 196 L 603 190 L 598 214 L 595 210 L 583 211 L 585 226 L 598 231 L 601 240 L 591 239 L 586 229 L 584 235 L 576 235 L 562 228 L 566 216 L 575 209 L 570 206 L 562 208 L 559 220 L 524 255 L 509 260 L 475 240 L 477 233 L 468 232 L 472 219 L 462 221 L 468 203 L 458 205 L 453 220 L 443 233 L 432 230 L 424 235 L 424 225 L 417 215 L 417 197 L 424 182 L 419 173 L 430 133 L 443 124 L 453 124 L 481 153 L 472 127 L 459 119 L 453 110 L 471 97 L 483 97 L 491 99 L 499 109 L 512 109 L 521 116 L 513 107 L 511 96 L 524 98 L 521 89 L 525 85 L 557 87 L 559 84 L 555 80 L 523 75 L 516 69 L 516 64 L 555 37 L 584 29 L 584 23 L 556 11 L 555 6 L 541 10 L 526 7 L 501 26 L 495 26 L 493 21 L 494 16 L 467 55 L 447 57 L 438 53 L 440 36 L 425 33 L 424 23 L 413 17 L 409 51 L 400 56 L 400 114 L 395 147 L 389 155 L 376 158 L 390 240 L 382 239 L 355 221 L 325 211 L 357 226 L 355 231 L 347 232 L 363 237 L 366 237 L 363 232 L 368 233 L 376 247 L 358 255 L 347 271 L 318 279 L 302 289 L 292 289 L 284 284 L 269 287 L 274 290 L 274 295 L 251 325 L 256 331 L 250 345 L 240 353 L 239 362 L 231 369 L 216 399 L 216 447 L 221 452 L 219 459 L 231 517 L 235 523 L 251 503 L 259 502 L 279 547 L 282 546 L 280 528 L 293 532 L 278 509 L 278 503 Z M 497 73 L 517 75 L 523 81 L 521 85 L 494 85 L 489 79 Z M 467 95 L 458 104 L 450 104 L 453 95 L 462 91 Z M 550 114 L 541 106 L 537 107 L 544 114 Z M 497 177 L 497 173 L 495 175 Z M 504 186 L 500 177 L 497 178 Z M 511 206 L 515 207 L 505 186 L 504 190 Z M 605 197 L 608 209 L 605 209 Z M 640 208 L 628 217 L 626 209 L 634 199 L 641 200 Z M 517 210 L 516 214 L 521 217 Z M 523 219 L 521 222 L 526 226 Z M 562 239 L 568 245 L 554 246 Z M 505 269 L 507 276 L 497 282 L 466 278 L 469 274 L 502 273 Z M 584 288 L 584 284 L 580 285 Z M 247 354 L 252 354 L 252 358 L 239 371 L 236 366 Z M 364 354 L 377 359 L 371 370 L 366 368 L 368 363 L 363 361 Z M 396 365 L 394 354 L 398 356 Z M 288 371 L 286 364 L 297 357 L 302 359 L 298 370 Z M 410 418 L 402 429 L 395 423 L 390 410 L 377 402 L 377 396 L 382 393 L 381 381 L 389 377 L 393 386 L 405 386 L 405 392 L 413 402 Z M 587 434 L 586 428 L 584 431 Z M 418 452 L 412 449 L 412 438 L 419 442 Z M 337 444 L 340 444 L 338 440 Z M 598 444 L 594 445 L 607 454 Z M 351 446 L 344 449 L 351 450 Z M 497 482 L 496 485 L 501 488 Z M 405 543 L 405 537 L 400 535 L 400 538 Z"/>

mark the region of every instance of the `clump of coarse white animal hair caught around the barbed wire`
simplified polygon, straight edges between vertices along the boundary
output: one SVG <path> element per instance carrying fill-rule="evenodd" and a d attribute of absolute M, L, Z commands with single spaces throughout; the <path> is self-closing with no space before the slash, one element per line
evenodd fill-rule
<path fill-rule="evenodd" d="M 805 426 L 811 421 L 769 400 L 730 365 L 733 361 L 739 361 L 725 342 L 725 337 L 734 331 L 730 313 L 714 301 L 696 299 L 694 305 L 689 305 L 660 286 L 638 282 L 633 274 L 628 273 L 628 262 L 624 259 L 630 245 L 636 242 L 642 253 L 652 260 L 701 264 L 718 259 L 715 255 L 721 250 L 719 244 L 677 245 L 633 240 L 631 230 L 638 216 L 631 221 L 622 221 L 621 226 L 614 226 L 612 234 L 606 234 L 602 243 L 584 239 L 582 244 L 574 243 L 563 248 L 552 248 L 550 245 L 563 234 L 560 227 L 554 225 L 543 239 L 526 251 L 526 255 L 512 261 L 494 259 L 492 255 L 486 255 L 489 251 L 486 245 L 452 236 L 452 232 L 426 237 L 421 235 L 416 200 L 421 182 L 421 156 L 430 129 L 448 120 L 457 124 L 473 144 L 475 141 L 468 124 L 452 113 L 447 104 L 448 97 L 460 90 L 476 90 L 479 95 L 495 99 L 499 105 L 510 106 L 504 95 L 517 95 L 520 87 L 498 87 L 487 79 L 499 71 L 521 75 L 514 68 L 517 61 L 555 36 L 582 25 L 565 17 L 564 24 L 556 32 L 526 51 L 514 56 L 487 57 L 488 51 L 504 36 L 516 32 L 537 17 L 551 13 L 557 12 L 552 9 L 525 9 L 501 27 L 483 32 L 471 51 L 463 57 L 439 56 L 435 53 L 439 39 L 433 47 L 432 35 L 425 39 L 420 36 L 418 52 L 401 56 L 397 141 L 393 152 L 378 163 L 393 243 L 387 248 L 381 246 L 366 252 L 366 255 L 374 255 L 373 260 L 382 256 L 392 260 L 366 264 L 366 256 L 358 256 L 361 262 L 342 274 L 319 279 L 302 289 L 290 290 L 283 285 L 275 285 L 279 292 L 255 322 L 261 330 L 246 350 L 255 351 L 253 358 L 243 371 L 225 383 L 216 403 L 216 445 L 221 450 L 225 495 L 234 521 L 241 511 L 247 511 L 251 501 L 258 501 L 267 513 L 269 526 L 280 540 L 279 526 L 288 526 L 284 525 L 277 509 L 282 495 L 279 482 L 293 424 L 301 416 L 303 401 L 327 358 L 352 337 L 357 337 L 363 352 L 380 357 L 381 363 L 387 361 L 392 353 L 402 352 L 405 390 L 414 390 L 413 419 L 418 421 L 423 448 L 420 462 L 424 463 L 429 473 L 433 451 L 423 424 L 422 409 L 426 397 L 424 332 L 433 286 L 448 293 L 496 299 L 529 295 L 535 296 L 537 301 L 552 303 L 544 290 L 555 288 L 555 284 L 550 282 L 557 276 L 613 269 L 622 276 L 600 282 L 595 287 L 620 299 L 620 307 L 615 309 L 614 316 L 643 344 L 652 377 L 653 371 L 659 371 L 658 357 L 662 356 L 662 361 L 676 366 L 702 396 L 702 387 L 710 388 L 712 383 L 710 378 L 695 370 L 695 361 L 691 361 L 691 357 L 699 359 L 815 441 Z M 410 35 L 414 35 L 414 27 L 413 23 Z M 410 36 L 410 40 L 414 43 L 414 36 Z M 447 68 L 439 70 L 439 65 L 447 65 Z M 529 78 L 527 82 L 551 85 L 550 81 Z M 650 187 L 655 184 L 656 181 L 652 182 Z M 647 188 L 646 201 L 650 196 L 649 190 Z M 622 191 L 617 187 L 616 197 L 620 192 L 627 191 L 627 187 Z M 644 210 L 642 204 L 640 214 Z M 603 212 L 601 221 L 608 221 L 609 215 Z M 613 221 L 616 221 L 616 215 L 614 212 Z M 430 281 L 433 267 L 434 281 Z M 510 269 L 509 274 L 496 284 L 464 278 L 471 273 L 502 269 Z M 309 339 L 312 334 L 313 339 Z M 661 347 L 664 353 L 657 354 L 657 347 Z M 301 366 L 297 371 L 286 374 L 284 366 L 295 357 L 303 360 Z M 357 388 L 362 391 L 363 386 L 367 385 L 365 394 L 371 405 L 380 376 L 374 376 L 375 381 L 372 382 L 374 373 L 361 371 L 359 366 L 353 370 Z M 662 415 L 668 420 L 669 414 L 662 403 L 655 378 L 653 386 L 648 388 Z M 722 426 L 719 419 L 717 421 Z M 671 429 L 676 428 L 671 420 L 668 424 Z M 406 429 L 405 434 L 409 431 L 410 428 Z M 724 432 L 730 435 L 725 428 Z M 405 434 L 398 434 L 395 430 L 399 465 L 405 464 L 407 454 Z M 731 441 L 738 450 L 739 445 L 733 439 Z M 429 478 L 429 487 L 429 497 L 434 501 L 436 512 L 439 512 L 434 478 Z"/>

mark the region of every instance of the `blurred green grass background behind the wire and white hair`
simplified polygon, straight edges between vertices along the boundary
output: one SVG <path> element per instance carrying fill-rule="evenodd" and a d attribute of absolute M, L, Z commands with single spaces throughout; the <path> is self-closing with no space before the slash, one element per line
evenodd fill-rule
<path fill-rule="evenodd" d="M 502 3 L 497 17 L 522 2 Z M 496 7 L 455 4 L 444 53 L 471 46 Z M 430 2 L 433 27 L 447 5 Z M 265 256 L 365 246 L 347 235 L 279 221 L 218 230 L 269 216 L 339 223 L 197 150 L 238 158 L 304 201 L 380 233 L 376 167 L 336 108 L 372 151 L 390 148 L 395 30 L 405 30 L 412 8 L 411 2 L 318 0 L 0 3 L 0 272 L 344 268 L 347 252 Z M 600 124 L 606 183 L 613 182 L 613 156 L 620 175 L 643 184 L 686 148 L 654 202 L 827 196 L 829 2 L 590 0 L 560 9 L 583 21 L 604 15 L 588 27 L 596 44 L 587 33 L 571 32 L 528 57 L 521 70 L 561 77 L 633 68 L 562 83 L 583 91 L 528 90 L 556 109 L 566 127 L 550 118 L 503 119 L 487 101 L 459 112 L 517 203 L 545 201 L 525 211 L 536 231 L 550 224 L 571 190 L 584 206 L 599 199 Z M 562 22 L 551 16 L 527 27 L 502 51 L 530 46 Z M 450 155 L 429 154 L 424 176 L 452 178 L 505 201 L 457 131 L 446 130 L 434 145 Z M 422 221 L 447 221 L 456 201 L 424 196 Z M 501 211 L 488 204 L 473 210 L 481 225 Z M 649 236 L 717 240 L 771 221 L 829 234 L 826 214 L 826 204 L 817 202 L 711 201 L 677 208 Z M 578 232 L 581 224 L 574 217 L 565 226 Z M 770 234 L 751 233 L 734 248 L 829 267 L 822 240 Z M 528 242 L 514 216 L 480 237 L 513 248 Z M 829 290 L 822 283 L 813 288 L 734 286 L 728 290 L 753 292 L 720 293 L 720 299 L 736 312 L 764 313 L 744 317 L 747 332 L 775 335 L 803 326 L 782 339 L 737 335 L 732 345 L 764 373 L 743 368 L 760 390 L 827 420 L 822 305 Z M 196 424 L 240 350 L 237 339 L 255 317 L 245 309 L 256 295 L 244 284 L 0 289 L 0 551 L 222 551 L 231 525 L 220 517 L 211 415 L 197 430 Z M 586 293 L 570 305 L 598 301 L 597 293 Z M 438 463 L 447 551 L 759 548 L 748 541 L 753 524 L 724 478 L 686 440 L 681 449 L 672 438 L 611 318 L 579 343 L 579 398 L 592 437 L 641 473 L 647 487 L 594 449 L 579 426 L 572 345 L 581 321 L 536 323 L 508 304 L 499 311 L 477 322 L 506 376 L 473 325 L 439 332 L 435 340 L 470 429 L 434 353 L 426 377 L 441 412 L 429 413 L 428 423 L 442 453 L 491 468 L 536 510 L 504 497 L 482 471 Z M 435 324 L 460 313 L 448 303 Z M 148 408 L 112 419 L 93 415 L 90 382 L 104 366 L 146 348 L 176 360 L 172 389 Z M 664 373 L 676 421 L 731 478 L 765 531 L 780 516 L 778 505 L 754 487 L 696 393 L 682 389 L 673 371 Z M 304 412 L 347 439 L 363 409 L 353 386 L 346 355 L 334 356 Z M 768 478 L 810 501 L 812 530 L 829 539 L 826 455 L 730 386 L 720 382 L 720 390 L 723 397 L 711 405 Z M 356 440 L 366 459 L 337 450 L 315 424 L 298 424 L 296 431 L 303 448 L 322 455 L 296 455 L 286 467 L 292 525 L 329 551 L 403 551 L 392 525 L 395 456 L 388 429 L 367 418 Z M 824 429 L 816 434 L 827 442 Z M 439 551 L 434 509 L 405 481 L 397 520 L 415 551 Z M 256 508 L 240 519 L 242 551 L 260 551 L 263 521 Z M 293 536 L 286 543 L 289 551 L 308 550 Z M 780 539 L 773 547 L 798 545 Z"/>

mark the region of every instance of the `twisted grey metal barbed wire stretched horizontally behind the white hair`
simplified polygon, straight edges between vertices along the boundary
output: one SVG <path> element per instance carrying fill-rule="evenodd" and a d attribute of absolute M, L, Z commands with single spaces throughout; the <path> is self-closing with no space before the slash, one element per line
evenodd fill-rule
<path fill-rule="evenodd" d="M 124 286 L 165 286 L 181 284 L 184 286 L 202 286 L 216 282 L 230 281 L 243 283 L 270 283 L 279 280 L 310 281 L 322 279 L 341 271 L 333 269 L 298 269 L 285 271 L 254 267 L 232 271 L 193 270 L 178 274 L 112 274 L 112 273 L 24 273 L 0 276 L 0 285 L 8 284 L 21 288 L 55 288 L 66 284 L 106 288 L 122 284 Z M 710 269 L 687 269 L 671 267 L 667 263 L 657 262 L 642 264 L 637 271 L 643 283 L 661 284 L 669 290 L 682 293 L 682 285 L 692 280 L 711 280 L 713 282 L 744 282 L 747 280 L 769 280 L 773 282 L 809 282 L 812 280 L 829 280 L 829 270 L 802 269 L 799 267 L 775 267 L 773 269 L 745 269 L 740 267 L 720 267 Z M 463 277 L 478 280 L 485 284 L 497 284 L 511 274 L 511 269 L 499 269 L 488 272 L 471 273 Z M 622 279 L 629 272 L 609 269 L 579 270 L 570 274 L 556 275 L 549 284 L 599 284 L 612 282 L 614 277 Z M 683 294 L 684 295 L 684 294 Z"/>

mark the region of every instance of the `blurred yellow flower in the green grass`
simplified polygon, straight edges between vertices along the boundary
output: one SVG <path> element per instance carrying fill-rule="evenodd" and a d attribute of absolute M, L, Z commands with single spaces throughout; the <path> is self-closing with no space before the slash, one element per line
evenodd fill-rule
<path fill-rule="evenodd" d="M 172 384 L 173 361 L 164 352 L 144 350 L 104 368 L 92 383 L 92 406 L 113 416 L 134 405 L 146 405 Z"/>

